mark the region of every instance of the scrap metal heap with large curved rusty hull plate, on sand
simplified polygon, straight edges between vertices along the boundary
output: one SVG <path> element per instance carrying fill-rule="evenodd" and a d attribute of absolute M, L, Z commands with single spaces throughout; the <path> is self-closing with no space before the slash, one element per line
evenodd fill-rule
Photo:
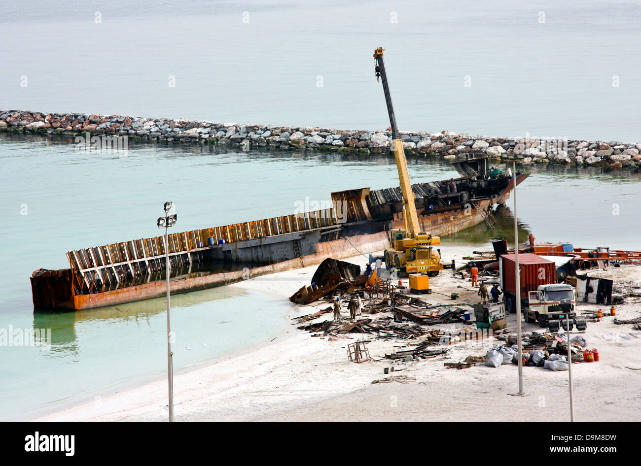
<path fill-rule="evenodd" d="M 392 360 L 435 357 L 447 352 L 444 346 L 492 335 L 491 332 L 479 332 L 468 326 L 463 304 L 429 304 L 400 293 L 404 290 L 403 287 L 395 287 L 382 280 L 376 281 L 374 285 L 367 285 L 368 277 L 358 275 L 359 272 L 358 266 L 334 259 L 320 264 L 312 278 L 312 285 L 301 288 L 290 300 L 297 303 L 325 300 L 328 307 L 294 317 L 294 323 L 299 324 L 297 328 L 316 337 L 329 337 L 330 341 L 349 338 L 346 333 L 367 334 L 369 340 L 366 341 L 405 341 L 406 349 L 385 355 Z M 356 296 L 362 303 L 356 318 L 339 317 L 312 322 L 324 314 L 331 314 L 335 305 L 340 309 L 340 303 L 352 301 Z M 365 317 L 363 314 L 369 316 Z M 447 323 L 463 326 L 449 329 L 428 327 Z M 441 348 L 433 348 L 437 345 L 441 345 Z"/>

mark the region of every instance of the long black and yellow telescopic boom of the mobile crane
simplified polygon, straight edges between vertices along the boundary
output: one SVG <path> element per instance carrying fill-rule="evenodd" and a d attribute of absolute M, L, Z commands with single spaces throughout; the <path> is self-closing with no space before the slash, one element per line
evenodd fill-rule
<path fill-rule="evenodd" d="M 399 135 L 398 127 L 396 125 L 396 117 L 394 116 L 394 107 L 392 106 L 392 96 L 390 95 L 390 87 L 387 83 L 387 74 L 385 73 L 385 64 L 383 63 L 383 47 L 378 47 L 374 51 L 374 59 L 376 60 L 376 80 L 381 78 L 383 82 L 383 92 L 385 93 L 385 103 L 387 104 L 387 113 L 390 117 L 390 127 L 392 127 L 392 149 L 394 149 L 394 159 L 396 161 L 396 168 L 399 172 L 399 181 L 401 182 L 401 192 L 403 193 L 403 215 L 407 224 L 407 232 L 409 237 L 415 237 L 420 232 L 419 217 L 416 213 L 415 195 L 412 191 L 412 183 L 410 183 L 410 174 L 407 170 L 407 161 L 405 159 L 405 152 L 403 150 L 403 141 Z"/>

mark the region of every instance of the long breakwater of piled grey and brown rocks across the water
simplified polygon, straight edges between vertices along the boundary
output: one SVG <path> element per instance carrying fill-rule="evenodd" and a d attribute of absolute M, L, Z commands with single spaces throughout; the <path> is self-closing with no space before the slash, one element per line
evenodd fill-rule
<path fill-rule="evenodd" d="M 348 153 L 389 152 L 391 131 L 346 131 L 321 127 L 282 127 L 214 123 L 206 120 L 88 115 L 85 113 L 44 113 L 0 109 L 0 132 L 60 135 L 87 138 L 117 136 L 128 142 L 201 143 L 241 147 L 269 147 L 279 150 L 323 150 Z M 515 160 L 520 164 L 637 168 L 641 165 L 641 144 L 619 141 L 583 141 L 567 138 L 488 138 L 465 133 L 401 132 L 408 156 L 482 156 Z M 83 139 L 84 140 L 84 139 Z"/>

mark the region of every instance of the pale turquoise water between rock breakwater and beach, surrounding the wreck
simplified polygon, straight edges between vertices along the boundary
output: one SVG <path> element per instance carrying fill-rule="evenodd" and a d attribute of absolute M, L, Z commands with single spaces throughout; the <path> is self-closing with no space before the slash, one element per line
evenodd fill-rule
<path fill-rule="evenodd" d="M 69 143 L 0 136 L 0 328 L 51 328 L 52 346 L 0 348 L 0 418 L 42 405 L 87 399 L 117 383 L 162 374 L 165 301 L 70 313 L 33 313 L 29 276 L 68 266 L 65 252 L 157 234 L 165 200 L 176 203 L 178 230 L 291 213 L 297 201 L 329 200 L 331 191 L 397 182 L 392 157 L 224 152 L 200 145 L 133 145 L 121 159 L 77 154 Z M 415 182 L 456 176 L 450 165 L 410 159 Z M 519 187 L 520 236 L 577 246 L 641 249 L 638 175 L 597 169 L 532 167 Z M 22 215 L 26 204 L 26 215 Z M 612 205 L 619 215 L 612 215 Z M 511 204 L 508 204 L 510 207 Z M 488 231 L 477 225 L 443 244 L 487 246 L 512 239 L 510 209 Z M 297 288 L 297 286 L 295 287 Z M 273 296 L 229 287 L 172 298 L 174 364 L 186 367 L 271 339 L 288 327 Z M 117 389 L 117 388 L 115 388 Z M 114 390 L 115 390 L 114 389 Z"/>

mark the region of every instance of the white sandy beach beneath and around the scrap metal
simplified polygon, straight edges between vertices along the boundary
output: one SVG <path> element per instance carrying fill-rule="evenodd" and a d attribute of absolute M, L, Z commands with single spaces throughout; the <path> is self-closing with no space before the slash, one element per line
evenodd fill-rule
<path fill-rule="evenodd" d="M 444 260 L 456 259 L 472 248 L 442 247 Z M 350 261 L 363 265 L 365 258 Z M 327 307 L 294 306 L 287 300 L 299 287 L 309 284 L 317 266 L 251 278 L 231 286 L 256 289 L 283 298 L 291 316 L 310 314 Z M 641 268 L 636 268 L 641 270 Z M 617 271 L 617 273 L 619 273 Z M 637 275 L 638 276 L 638 275 Z M 406 281 L 406 280 L 405 280 Z M 476 291 L 452 289 L 469 287 L 469 281 L 454 279 L 444 271 L 430 280 L 435 291 L 456 291 L 462 300 L 476 300 Z M 432 303 L 452 303 L 447 296 L 424 295 Z M 595 305 L 579 305 L 595 309 Z M 605 309 L 604 309 L 605 310 Z M 617 307 L 619 318 L 641 315 L 641 305 Z M 329 316 L 329 317 L 328 317 Z M 344 310 L 347 317 L 347 310 Z M 363 314 L 370 317 L 369 314 Z M 331 314 L 319 321 L 331 319 Z M 598 348 L 601 361 L 574 364 L 574 403 L 577 421 L 640 421 L 641 332 L 631 325 L 614 325 L 612 317 L 588 323 L 590 348 Z M 460 327 L 460 326 L 458 326 Z M 516 328 L 515 314 L 508 315 L 508 327 Z M 438 325 L 436 328 L 453 328 Z M 523 324 L 523 330 L 539 330 Z M 524 388 L 517 392 L 517 366 L 498 368 L 476 366 L 445 369 L 443 362 L 456 362 L 467 355 L 485 355 L 488 342 L 451 346 L 445 357 L 411 361 L 390 360 L 354 364 L 347 361 L 346 346 L 372 335 L 348 333 L 348 339 L 328 341 L 312 337 L 292 325 L 274 341 L 260 348 L 221 357 L 174 377 L 176 421 L 568 421 L 567 371 L 553 372 L 524 367 Z M 495 343 L 494 341 L 492 343 Z M 370 355 L 380 359 L 398 351 L 402 342 L 377 341 L 368 344 Z M 390 375 L 415 377 L 410 383 L 377 383 L 386 377 L 383 367 L 394 366 Z M 167 382 L 147 383 L 73 408 L 47 415 L 37 421 L 166 421 Z"/>

